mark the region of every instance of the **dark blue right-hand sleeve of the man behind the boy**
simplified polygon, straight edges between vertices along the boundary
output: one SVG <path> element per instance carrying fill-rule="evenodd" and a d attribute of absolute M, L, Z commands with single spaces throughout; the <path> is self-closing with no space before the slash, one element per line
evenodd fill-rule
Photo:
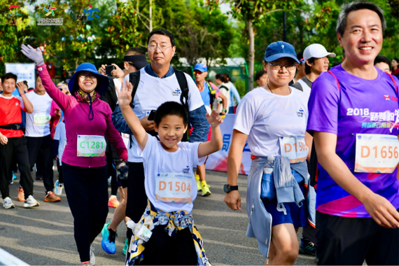
<path fill-rule="evenodd" d="M 209 132 L 209 123 L 207 121 L 207 109 L 205 109 L 204 104 L 200 108 L 190 111 L 189 119 L 190 124 L 193 127 L 193 132 L 191 133 L 190 142 L 204 142 L 207 141 Z"/>

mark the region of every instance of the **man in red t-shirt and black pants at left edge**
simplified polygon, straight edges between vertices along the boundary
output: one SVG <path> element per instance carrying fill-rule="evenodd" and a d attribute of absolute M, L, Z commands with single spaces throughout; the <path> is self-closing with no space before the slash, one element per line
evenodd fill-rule
<path fill-rule="evenodd" d="M 25 208 L 39 206 L 33 195 L 33 179 L 29 171 L 29 158 L 27 151 L 27 139 L 22 130 L 21 110 L 27 113 L 34 111 L 31 102 L 24 92 L 26 86 L 23 82 L 17 83 L 17 76 L 13 73 L 6 73 L 1 77 L 3 93 L 0 94 L 0 191 L 3 197 L 5 209 L 14 208 L 10 199 L 8 188 L 8 176 L 11 174 L 11 161 L 13 155 L 18 162 L 21 173 L 21 183 L 25 192 Z M 21 97 L 14 96 L 15 85 Z"/>

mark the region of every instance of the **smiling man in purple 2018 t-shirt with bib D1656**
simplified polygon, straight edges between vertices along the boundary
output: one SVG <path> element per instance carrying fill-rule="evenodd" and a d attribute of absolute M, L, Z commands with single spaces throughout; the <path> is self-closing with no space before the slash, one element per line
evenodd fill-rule
<path fill-rule="evenodd" d="M 374 67 L 385 28 L 374 3 L 343 6 L 346 59 L 311 87 L 319 266 L 399 265 L 399 80 Z"/>

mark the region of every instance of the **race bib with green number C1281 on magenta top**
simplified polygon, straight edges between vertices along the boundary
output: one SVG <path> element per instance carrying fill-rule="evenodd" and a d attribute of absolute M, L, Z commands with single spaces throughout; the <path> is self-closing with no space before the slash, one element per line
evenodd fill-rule
<path fill-rule="evenodd" d="M 78 135 L 78 157 L 102 157 L 105 155 L 104 136 Z"/>

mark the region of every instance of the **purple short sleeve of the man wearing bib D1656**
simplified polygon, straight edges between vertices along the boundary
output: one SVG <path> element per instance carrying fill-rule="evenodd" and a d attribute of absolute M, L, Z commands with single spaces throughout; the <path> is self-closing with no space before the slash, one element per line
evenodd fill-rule
<path fill-rule="evenodd" d="M 325 72 L 311 85 L 308 102 L 307 131 L 337 134 L 339 111 L 339 88 L 332 74 Z"/>

